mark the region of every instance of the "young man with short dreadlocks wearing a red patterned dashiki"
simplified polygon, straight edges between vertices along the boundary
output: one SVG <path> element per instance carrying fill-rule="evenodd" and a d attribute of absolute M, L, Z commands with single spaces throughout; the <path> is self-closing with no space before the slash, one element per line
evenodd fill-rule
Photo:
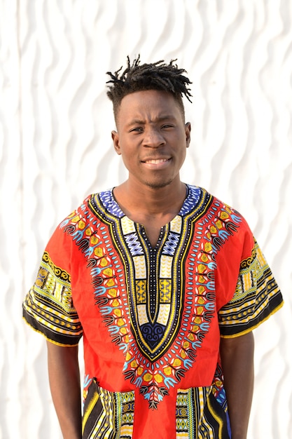
<path fill-rule="evenodd" d="M 65 439 L 246 438 L 252 330 L 282 298 L 242 215 L 180 180 L 184 72 L 138 58 L 110 74 L 128 179 L 61 222 L 24 302 Z"/>

